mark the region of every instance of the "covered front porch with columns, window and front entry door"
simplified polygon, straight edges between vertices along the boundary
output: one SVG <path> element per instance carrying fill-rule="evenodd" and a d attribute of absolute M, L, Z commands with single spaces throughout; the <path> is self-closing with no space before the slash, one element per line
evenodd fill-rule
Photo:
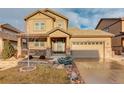
<path fill-rule="evenodd" d="M 26 41 L 25 43 L 24 40 Z M 26 55 L 45 55 L 47 58 L 61 54 L 69 55 L 69 37 L 22 35 L 18 37 L 17 56 L 21 57 L 24 51 L 27 53 Z"/>

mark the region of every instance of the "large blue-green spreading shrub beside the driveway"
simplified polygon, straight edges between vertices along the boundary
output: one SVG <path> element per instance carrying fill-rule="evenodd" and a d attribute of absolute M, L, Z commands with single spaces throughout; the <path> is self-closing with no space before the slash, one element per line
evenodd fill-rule
<path fill-rule="evenodd" d="M 73 59 L 70 56 L 61 57 L 61 58 L 58 58 L 58 62 L 64 65 L 71 65 L 73 63 Z"/>

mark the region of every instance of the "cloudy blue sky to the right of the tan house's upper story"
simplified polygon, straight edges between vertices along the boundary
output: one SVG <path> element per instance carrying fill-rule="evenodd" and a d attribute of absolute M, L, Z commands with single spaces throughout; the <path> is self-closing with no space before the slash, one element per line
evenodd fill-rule
<path fill-rule="evenodd" d="M 70 26 L 76 26 L 81 29 L 94 29 L 101 18 L 118 18 L 124 16 L 123 8 L 64 8 L 55 10 L 61 11 L 69 18 Z"/>

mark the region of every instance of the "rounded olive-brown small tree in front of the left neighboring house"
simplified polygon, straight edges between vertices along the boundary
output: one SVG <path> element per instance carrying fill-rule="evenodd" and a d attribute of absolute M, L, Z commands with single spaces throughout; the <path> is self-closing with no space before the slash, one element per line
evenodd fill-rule
<path fill-rule="evenodd" d="M 12 57 L 15 54 L 15 49 L 14 47 L 11 45 L 10 41 L 5 41 L 4 42 L 4 47 L 2 50 L 2 58 L 3 59 L 8 59 L 10 57 Z"/>

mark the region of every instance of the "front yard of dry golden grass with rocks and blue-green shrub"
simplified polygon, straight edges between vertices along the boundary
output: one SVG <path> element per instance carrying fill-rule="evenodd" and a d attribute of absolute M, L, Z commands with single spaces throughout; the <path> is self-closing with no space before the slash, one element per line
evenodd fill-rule
<path fill-rule="evenodd" d="M 29 65 L 29 66 L 28 66 Z M 72 57 L 32 58 L 0 72 L 0 83 L 8 84 L 81 84 L 80 73 Z"/>

